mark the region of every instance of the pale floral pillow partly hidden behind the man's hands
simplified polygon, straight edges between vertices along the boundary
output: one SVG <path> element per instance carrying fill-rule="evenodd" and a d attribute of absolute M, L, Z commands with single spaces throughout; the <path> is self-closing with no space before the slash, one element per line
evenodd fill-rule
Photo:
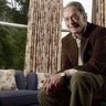
<path fill-rule="evenodd" d="M 41 73 L 41 72 L 38 72 L 36 73 L 38 75 L 38 89 L 41 89 L 43 87 L 43 82 L 46 77 L 50 76 L 49 73 Z"/>

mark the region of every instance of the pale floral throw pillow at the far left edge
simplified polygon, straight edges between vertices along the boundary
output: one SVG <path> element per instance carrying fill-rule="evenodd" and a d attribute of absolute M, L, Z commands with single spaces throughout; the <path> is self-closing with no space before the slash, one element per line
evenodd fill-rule
<path fill-rule="evenodd" d="M 17 89 L 14 70 L 0 70 L 0 91 Z"/>

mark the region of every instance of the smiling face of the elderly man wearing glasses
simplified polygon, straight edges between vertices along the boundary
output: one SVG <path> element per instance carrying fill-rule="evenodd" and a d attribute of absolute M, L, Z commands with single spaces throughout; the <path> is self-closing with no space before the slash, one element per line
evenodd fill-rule
<path fill-rule="evenodd" d="M 87 23 L 86 14 L 81 13 L 74 6 L 64 9 L 63 18 L 66 26 L 73 34 L 82 33 Z"/>

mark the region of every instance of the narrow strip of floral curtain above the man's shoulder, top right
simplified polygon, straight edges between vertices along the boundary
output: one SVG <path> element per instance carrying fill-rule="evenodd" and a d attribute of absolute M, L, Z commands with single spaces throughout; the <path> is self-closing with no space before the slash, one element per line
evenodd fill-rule
<path fill-rule="evenodd" d="M 93 23 L 106 26 L 106 0 L 93 0 Z"/>

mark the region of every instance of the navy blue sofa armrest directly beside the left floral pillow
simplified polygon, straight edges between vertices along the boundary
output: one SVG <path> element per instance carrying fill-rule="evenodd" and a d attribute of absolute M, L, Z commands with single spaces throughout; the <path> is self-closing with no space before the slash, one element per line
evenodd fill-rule
<path fill-rule="evenodd" d="M 22 71 L 15 71 L 15 82 L 19 89 L 25 89 L 25 80 Z"/>

